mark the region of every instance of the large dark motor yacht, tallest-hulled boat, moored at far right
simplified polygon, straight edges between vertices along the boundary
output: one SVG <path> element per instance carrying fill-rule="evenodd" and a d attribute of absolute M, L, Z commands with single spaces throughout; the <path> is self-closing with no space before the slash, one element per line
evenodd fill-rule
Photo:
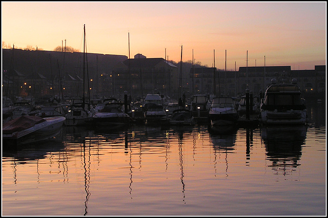
<path fill-rule="evenodd" d="M 296 78 L 293 78 L 291 84 L 277 84 L 277 80 L 273 78 L 261 102 L 259 122 L 264 125 L 305 124 L 308 122 L 308 115 L 301 94 Z"/>

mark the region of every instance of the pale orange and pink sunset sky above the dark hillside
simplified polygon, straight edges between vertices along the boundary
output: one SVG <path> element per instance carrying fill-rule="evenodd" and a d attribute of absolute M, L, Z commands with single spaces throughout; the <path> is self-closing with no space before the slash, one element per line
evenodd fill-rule
<path fill-rule="evenodd" d="M 326 65 L 326 2 L 2 2 L 15 48 L 168 57 L 237 70 Z M 130 42 L 130 54 L 129 54 Z M 227 54 L 227 55 L 226 55 Z M 226 57 L 227 56 L 227 57 Z"/>

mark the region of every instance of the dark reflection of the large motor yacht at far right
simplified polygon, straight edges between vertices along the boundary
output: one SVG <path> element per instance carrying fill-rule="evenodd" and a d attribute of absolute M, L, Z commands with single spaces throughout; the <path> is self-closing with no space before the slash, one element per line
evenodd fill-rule
<path fill-rule="evenodd" d="M 307 129 L 307 125 L 262 127 L 267 158 L 272 162 L 269 167 L 283 175 L 289 170 L 294 171 L 293 168 L 300 165 Z"/>

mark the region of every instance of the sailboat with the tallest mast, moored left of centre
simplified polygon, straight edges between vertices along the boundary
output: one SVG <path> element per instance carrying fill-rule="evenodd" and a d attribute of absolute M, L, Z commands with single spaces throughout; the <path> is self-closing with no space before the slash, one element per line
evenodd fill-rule
<path fill-rule="evenodd" d="M 92 121 L 92 116 L 94 115 L 94 110 L 90 111 L 90 104 L 86 104 L 85 101 L 85 69 L 86 69 L 86 25 L 84 25 L 84 42 L 83 42 L 83 98 L 80 100 L 79 104 L 72 104 L 69 112 L 66 114 L 65 125 L 66 126 L 81 126 L 86 125 Z M 87 66 L 88 69 L 88 66 Z M 87 72 L 88 75 L 88 72 Z M 89 77 L 89 76 L 88 76 Z M 88 94 L 90 99 L 90 89 L 89 80 L 88 81 Z"/>

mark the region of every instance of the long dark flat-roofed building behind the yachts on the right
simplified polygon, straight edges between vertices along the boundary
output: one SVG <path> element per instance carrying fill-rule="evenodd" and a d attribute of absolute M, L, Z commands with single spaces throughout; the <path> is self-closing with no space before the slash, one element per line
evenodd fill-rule
<path fill-rule="evenodd" d="M 296 78 L 302 93 L 308 96 L 324 96 L 326 86 L 325 65 L 315 66 L 314 70 L 291 70 L 290 66 L 239 67 L 238 71 L 217 71 L 214 68 L 194 68 L 191 73 L 192 93 L 204 93 L 237 96 L 243 95 L 246 89 L 255 95 L 265 92 L 272 78 L 279 81 L 284 74 Z M 214 86 L 214 83 L 216 86 Z"/>

